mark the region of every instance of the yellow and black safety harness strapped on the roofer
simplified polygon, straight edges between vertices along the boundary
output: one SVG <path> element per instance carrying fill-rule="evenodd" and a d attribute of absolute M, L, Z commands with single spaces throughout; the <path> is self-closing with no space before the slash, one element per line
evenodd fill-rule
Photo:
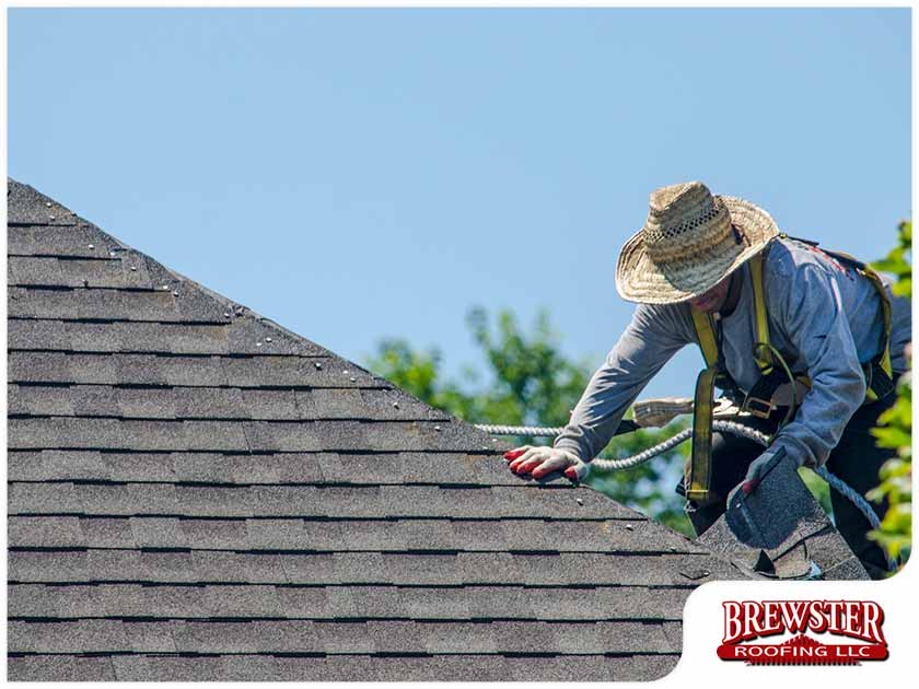
<path fill-rule="evenodd" d="M 778 238 L 789 238 L 807 245 L 812 250 L 817 250 L 816 242 L 790 237 L 787 234 L 779 234 Z M 753 347 L 753 357 L 756 366 L 759 369 L 759 379 L 754 383 L 749 392 L 743 397 L 741 410 L 760 419 L 768 419 L 777 405 L 772 397 L 779 386 L 790 383 L 792 401 L 788 412 L 779 428 L 788 423 L 793 417 L 798 406 L 796 385 L 800 383 L 805 388 L 811 387 L 811 379 L 805 374 L 792 374 L 781 353 L 769 343 L 769 322 L 766 313 L 766 299 L 763 280 L 763 264 L 768 254 L 767 247 L 749 259 L 751 281 L 753 283 L 753 301 L 756 313 L 756 341 Z M 884 317 L 884 332 L 881 353 L 873 360 L 862 364 L 868 389 L 865 402 L 874 401 L 886 397 L 894 389 L 893 373 L 891 369 L 891 301 L 884 291 L 884 283 L 881 277 L 862 261 L 839 252 L 827 252 L 818 249 L 826 256 L 839 264 L 854 270 L 858 275 L 868 278 L 881 296 L 881 305 Z M 706 314 L 690 308 L 693 324 L 696 328 L 696 336 L 699 340 L 699 348 L 706 361 L 706 369 L 699 374 L 696 381 L 696 394 L 693 411 L 693 451 L 685 477 L 686 498 L 698 505 L 703 505 L 712 500 L 711 495 L 711 432 L 712 432 L 712 405 L 714 400 L 714 387 L 728 390 L 737 398 L 737 385 L 731 378 L 724 364 L 723 353 L 716 337 L 716 323 L 711 314 Z M 775 434 L 772 435 L 775 437 Z M 770 442 L 771 442 L 770 437 Z"/>

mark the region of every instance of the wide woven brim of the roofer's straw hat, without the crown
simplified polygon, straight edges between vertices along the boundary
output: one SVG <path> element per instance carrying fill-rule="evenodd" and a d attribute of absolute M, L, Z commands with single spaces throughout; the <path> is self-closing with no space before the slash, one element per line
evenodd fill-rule
<path fill-rule="evenodd" d="M 665 264 L 652 261 L 639 231 L 623 246 L 616 266 L 616 290 L 629 302 L 675 304 L 698 296 L 721 282 L 729 273 L 761 252 L 779 234 L 779 227 L 765 210 L 731 196 L 719 196 L 731 222 L 742 232 L 737 244 L 734 233 L 718 244 Z"/>

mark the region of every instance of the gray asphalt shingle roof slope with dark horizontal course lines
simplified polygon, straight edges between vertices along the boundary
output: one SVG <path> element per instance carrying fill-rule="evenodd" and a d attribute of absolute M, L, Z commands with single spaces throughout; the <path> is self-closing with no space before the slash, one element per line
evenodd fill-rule
<path fill-rule="evenodd" d="M 615 680 L 737 570 L 10 180 L 9 678 Z"/>

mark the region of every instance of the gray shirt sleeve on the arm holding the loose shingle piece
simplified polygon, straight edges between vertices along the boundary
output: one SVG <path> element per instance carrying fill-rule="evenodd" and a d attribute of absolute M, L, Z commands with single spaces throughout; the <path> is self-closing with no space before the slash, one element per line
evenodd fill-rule
<path fill-rule="evenodd" d="M 819 467 L 864 400 L 864 373 L 836 278 L 815 264 L 784 265 L 776 277 L 770 280 L 769 307 L 800 352 L 811 389 L 773 446 Z"/>

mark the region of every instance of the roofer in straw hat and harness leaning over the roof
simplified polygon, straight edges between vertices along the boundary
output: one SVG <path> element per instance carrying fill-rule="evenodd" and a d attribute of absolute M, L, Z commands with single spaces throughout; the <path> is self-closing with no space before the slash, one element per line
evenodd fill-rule
<path fill-rule="evenodd" d="M 864 495 L 892 454 L 869 430 L 894 404 L 894 382 L 907 369 L 908 300 L 893 297 L 889 279 L 851 257 L 789 237 L 761 208 L 712 195 L 699 182 L 656 189 L 650 206 L 616 268 L 619 294 L 638 303 L 631 322 L 554 447 L 507 453 L 511 469 L 582 477 L 648 381 L 695 342 L 712 373 L 700 375 L 697 393 L 714 382 L 752 414 L 745 422 L 778 431 L 765 451 L 717 432 L 703 444 L 707 475 L 697 486 L 687 474 L 677 488 L 697 534 L 723 514 L 734 487 L 744 481 L 745 492 L 754 490 L 779 452 L 799 466 L 826 465 Z M 703 406 L 697 394 L 694 424 Z M 708 423 L 710 431 L 710 411 Z M 865 517 L 835 491 L 831 502 L 842 537 L 869 573 L 882 576 L 887 561 L 868 539 Z"/>

